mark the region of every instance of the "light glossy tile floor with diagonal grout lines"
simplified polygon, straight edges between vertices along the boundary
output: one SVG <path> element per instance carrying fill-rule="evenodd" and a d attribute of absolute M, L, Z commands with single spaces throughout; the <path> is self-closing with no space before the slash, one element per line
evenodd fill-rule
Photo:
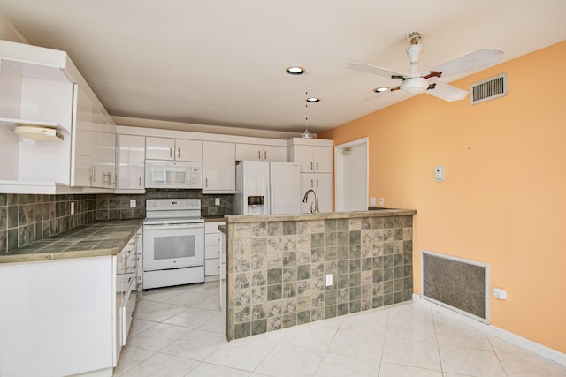
<path fill-rule="evenodd" d="M 141 292 L 114 375 L 566 376 L 566 366 L 409 302 L 226 342 L 218 282 Z"/>

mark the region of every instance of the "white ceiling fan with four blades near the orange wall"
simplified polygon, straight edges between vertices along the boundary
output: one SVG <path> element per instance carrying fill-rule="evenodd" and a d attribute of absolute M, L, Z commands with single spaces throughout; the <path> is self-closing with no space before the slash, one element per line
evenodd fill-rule
<path fill-rule="evenodd" d="M 418 44 L 418 41 L 421 39 L 421 34 L 418 32 L 409 33 L 407 39 L 410 41 L 410 45 L 406 49 L 410 62 L 409 73 L 407 75 L 365 63 L 349 63 L 348 68 L 391 79 L 402 79 L 401 84 L 398 87 L 392 87 L 390 89 L 391 91 L 401 90 L 406 94 L 426 93 L 452 102 L 463 100 L 466 94 L 468 94 L 468 91 L 439 82 L 437 79 L 496 64 L 501 60 L 501 55 L 503 54 L 503 51 L 499 50 L 478 49 L 478 51 L 471 52 L 463 57 L 456 57 L 444 64 L 440 64 L 432 68 L 431 71 L 423 74 L 419 71 L 417 66 L 418 59 L 423 50 L 423 46 Z"/>

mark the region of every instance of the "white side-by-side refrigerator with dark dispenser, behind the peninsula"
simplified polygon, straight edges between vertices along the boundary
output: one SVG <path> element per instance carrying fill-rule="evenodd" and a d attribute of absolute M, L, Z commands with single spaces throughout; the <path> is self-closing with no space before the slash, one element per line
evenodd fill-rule
<path fill-rule="evenodd" d="M 236 165 L 234 215 L 301 213 L 297 162 L 241 161 Z"/>

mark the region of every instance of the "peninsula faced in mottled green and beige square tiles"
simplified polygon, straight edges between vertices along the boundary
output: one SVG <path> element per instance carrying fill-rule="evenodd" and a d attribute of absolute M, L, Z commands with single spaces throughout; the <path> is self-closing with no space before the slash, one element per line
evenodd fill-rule
<path fill-rule="evenodd" d="M 411 299 L 416 213 L 225 216 L 226 337 Z"/>

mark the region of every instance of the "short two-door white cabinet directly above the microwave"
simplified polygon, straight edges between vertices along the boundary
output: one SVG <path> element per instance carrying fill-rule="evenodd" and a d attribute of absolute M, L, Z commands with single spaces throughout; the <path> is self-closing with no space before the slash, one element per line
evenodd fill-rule
<path fill-rule="evenodd" d="M 146 138 L 145 154 L 147 160 L 203 161 L 203 142 L 201 140 Z"/>

